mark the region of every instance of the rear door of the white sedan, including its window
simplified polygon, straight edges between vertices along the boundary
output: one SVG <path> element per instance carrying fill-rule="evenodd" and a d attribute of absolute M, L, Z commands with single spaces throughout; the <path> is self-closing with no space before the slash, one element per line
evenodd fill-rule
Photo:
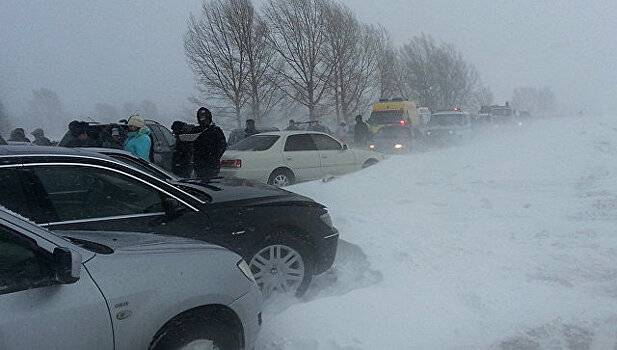
<path fill-rule="evenodd" d="M 287 136 L 283 163 L 294 172 L 296 181 L 313 180 L 322 176 L 319 151 L 310 134 Z"/>

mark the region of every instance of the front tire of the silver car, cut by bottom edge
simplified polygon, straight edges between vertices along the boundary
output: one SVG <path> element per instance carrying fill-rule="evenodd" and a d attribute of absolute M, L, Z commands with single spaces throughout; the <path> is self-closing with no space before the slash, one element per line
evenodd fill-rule
<path fill-rule="evenodd" d="M 150 350 L 239 350 L 240 339 L 233 328 L 215 315 L 191 313 L 159 331 Z"/>

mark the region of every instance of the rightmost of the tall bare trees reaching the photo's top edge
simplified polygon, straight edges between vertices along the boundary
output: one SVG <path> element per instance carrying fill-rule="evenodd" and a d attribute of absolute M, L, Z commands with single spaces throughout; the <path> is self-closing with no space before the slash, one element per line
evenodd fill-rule
<path fill-rule="evenodd" d="M 330 3 L 325 18 L 337 121 L 347 122 L 351 114 L 367 106 L 374 93 L 381 37 L 342 4 Z"/>

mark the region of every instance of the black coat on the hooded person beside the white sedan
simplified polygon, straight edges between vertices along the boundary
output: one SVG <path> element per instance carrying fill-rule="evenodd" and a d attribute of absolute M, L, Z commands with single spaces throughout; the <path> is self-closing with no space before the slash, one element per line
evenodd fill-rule
<path fill-rule="evenodd" d="M 227 150 L 223 130 L 211 124 L 200 128 L 200 134 L 193 143 L 193 163 L 196 170 L 220 169 L 221 157 Z"/>

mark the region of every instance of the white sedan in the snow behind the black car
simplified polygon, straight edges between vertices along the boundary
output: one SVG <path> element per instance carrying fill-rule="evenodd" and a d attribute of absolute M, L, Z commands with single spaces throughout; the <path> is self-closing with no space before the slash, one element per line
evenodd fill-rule
<path fill-rule="evenodd" d="M 332 136 L 313 131 L 253 135 L 230 147 L 221 160 L 221 176 L 288 186 L 337 176 L 374 165 L 384 156 L 349 149 Z"/>

